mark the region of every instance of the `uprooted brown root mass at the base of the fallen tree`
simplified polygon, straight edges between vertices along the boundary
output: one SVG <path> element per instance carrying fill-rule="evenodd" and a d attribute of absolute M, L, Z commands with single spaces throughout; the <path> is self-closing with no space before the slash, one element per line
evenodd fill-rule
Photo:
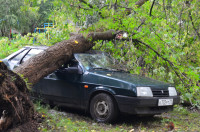
<path fill-rule="evenodd" d="M 33 115 L 24 80 L 0 62 L 0 131 L 29 121 Z"/>

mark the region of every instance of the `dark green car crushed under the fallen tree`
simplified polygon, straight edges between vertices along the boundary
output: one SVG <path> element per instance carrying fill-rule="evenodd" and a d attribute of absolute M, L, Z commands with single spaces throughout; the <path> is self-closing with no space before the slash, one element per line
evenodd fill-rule
<path fill-rule="evenodd" d="M 27 50 L 28 49 L 28 50 Z M 19 62 L 41 47 L 25 47 L 4 59 Z M 24 54 L 24 51 L 27 53 Z M 35 54 L 34 54 L 35 55 Z M 19 58 L 19 57 L 18 57 Z M 16 59 L 15 59 L 16 61 Z M 33 87 L 33 95 L 50 104 L 84 109 L 98 122 L 112 122 L 118 114 L 155 115 L 173 110 L 179 96 L 173 85 L 116 70 L 114 60 L 104 53 L 74 54 L 74 58 Z"/>

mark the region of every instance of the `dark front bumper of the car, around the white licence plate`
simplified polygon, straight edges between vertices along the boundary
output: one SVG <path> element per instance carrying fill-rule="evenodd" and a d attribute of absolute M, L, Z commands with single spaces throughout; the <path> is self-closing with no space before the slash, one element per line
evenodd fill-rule
<path fill-rule="evenodd" d="M 128 97 L 115 96 L 119 110 L 122 113 L 137 115 L 155 115 L 172 111 L 173 105 L 180 102 L 180 97 Z M 158 99 L 173 99 L 171 106 L 158 106 Z"/>

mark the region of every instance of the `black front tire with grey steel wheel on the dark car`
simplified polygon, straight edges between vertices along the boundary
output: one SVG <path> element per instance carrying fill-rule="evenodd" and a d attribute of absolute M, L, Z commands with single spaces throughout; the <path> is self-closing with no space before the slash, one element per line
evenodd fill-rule
<path fill-rule="evenodd" d="M 118 113 L 118 107 L 110 95 L 100 93 L 92 98 L 90 114 L 95 121 L 111 123 L 117 118 Z"/>

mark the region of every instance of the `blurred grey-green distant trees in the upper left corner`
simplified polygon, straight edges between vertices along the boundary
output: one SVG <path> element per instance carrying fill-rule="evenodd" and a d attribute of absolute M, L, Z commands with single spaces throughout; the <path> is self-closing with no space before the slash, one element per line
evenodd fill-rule
<path fill-rule="evenodd" d="M 0 0 L 0 35 L 9 36 L 10 29 L 21 34 L 33 32 L 49 19 L 53 0 Z M 9 36 L 10 37 L 10 36 Z"/>

